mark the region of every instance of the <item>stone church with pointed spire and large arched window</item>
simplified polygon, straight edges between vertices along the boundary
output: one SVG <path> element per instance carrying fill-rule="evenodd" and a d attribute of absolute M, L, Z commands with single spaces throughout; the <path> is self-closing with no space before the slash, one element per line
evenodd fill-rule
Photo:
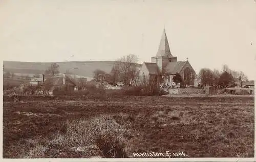
<path fill-rule="evenodd" d="M 170 52 L 165 29 L 160 40 L 156 56 L 151 58 L 151 62 L 143 62 L 139 76 L 141 83 L 148 80 L 150 84 L 156 86 L 174 85 L 173 77 L 179 73 L 184 86 L 194 85 L 196 72 L 186 61 L 177 61 L 177 57 Z"/>

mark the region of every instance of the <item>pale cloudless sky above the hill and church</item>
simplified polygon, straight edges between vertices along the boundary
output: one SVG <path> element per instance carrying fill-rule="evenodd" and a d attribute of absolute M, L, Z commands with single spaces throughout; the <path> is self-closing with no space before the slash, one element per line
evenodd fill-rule
<path fill-rule="evenodd" d="M 255 78 L 256 2 L 0 0 L 2 60 L 151 62 L 165 28 L 172 55 L 194 67 L 222 64 Z"/>

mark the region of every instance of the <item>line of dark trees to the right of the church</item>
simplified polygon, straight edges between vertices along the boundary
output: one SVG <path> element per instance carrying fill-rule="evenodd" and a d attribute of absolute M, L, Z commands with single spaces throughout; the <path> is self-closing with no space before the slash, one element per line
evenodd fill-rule
<path fill-rule="evenodd" d="M 221 72 L 215 69 L 202 68 L 199 72 L 199 78 L 204 86 L 214 85 L 216 87 L 226 87 L 227 85 L 236 85 L 240 83 L 243 86 L 245 81 L 248 81 L 247 76 L 242 71 L 231 70 L 228 65 L 222 65 Z"/>

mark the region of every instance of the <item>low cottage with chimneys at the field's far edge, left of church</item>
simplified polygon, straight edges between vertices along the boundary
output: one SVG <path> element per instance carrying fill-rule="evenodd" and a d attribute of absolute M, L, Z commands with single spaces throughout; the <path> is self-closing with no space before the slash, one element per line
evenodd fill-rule
<path fill-rule="evenodd" d="M 68 86 L 69 89 L 74 90 L 76 83 L 64 73 L 63 76 L 48 78 L 42 82 L 41 86 L 48 95 L 53 95 L 53 90 L 62 86 Z"/>

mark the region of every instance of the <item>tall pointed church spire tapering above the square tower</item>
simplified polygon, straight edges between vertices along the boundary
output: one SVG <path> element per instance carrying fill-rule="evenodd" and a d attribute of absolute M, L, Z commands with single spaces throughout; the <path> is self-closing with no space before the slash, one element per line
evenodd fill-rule
<path fill-rule="evenodd" d="M 170 53 L 168 39 L 165 33 L 165 28 L 163 28 L 163 34 L 160 40 L 157 56 L 172 56 Z"/>

